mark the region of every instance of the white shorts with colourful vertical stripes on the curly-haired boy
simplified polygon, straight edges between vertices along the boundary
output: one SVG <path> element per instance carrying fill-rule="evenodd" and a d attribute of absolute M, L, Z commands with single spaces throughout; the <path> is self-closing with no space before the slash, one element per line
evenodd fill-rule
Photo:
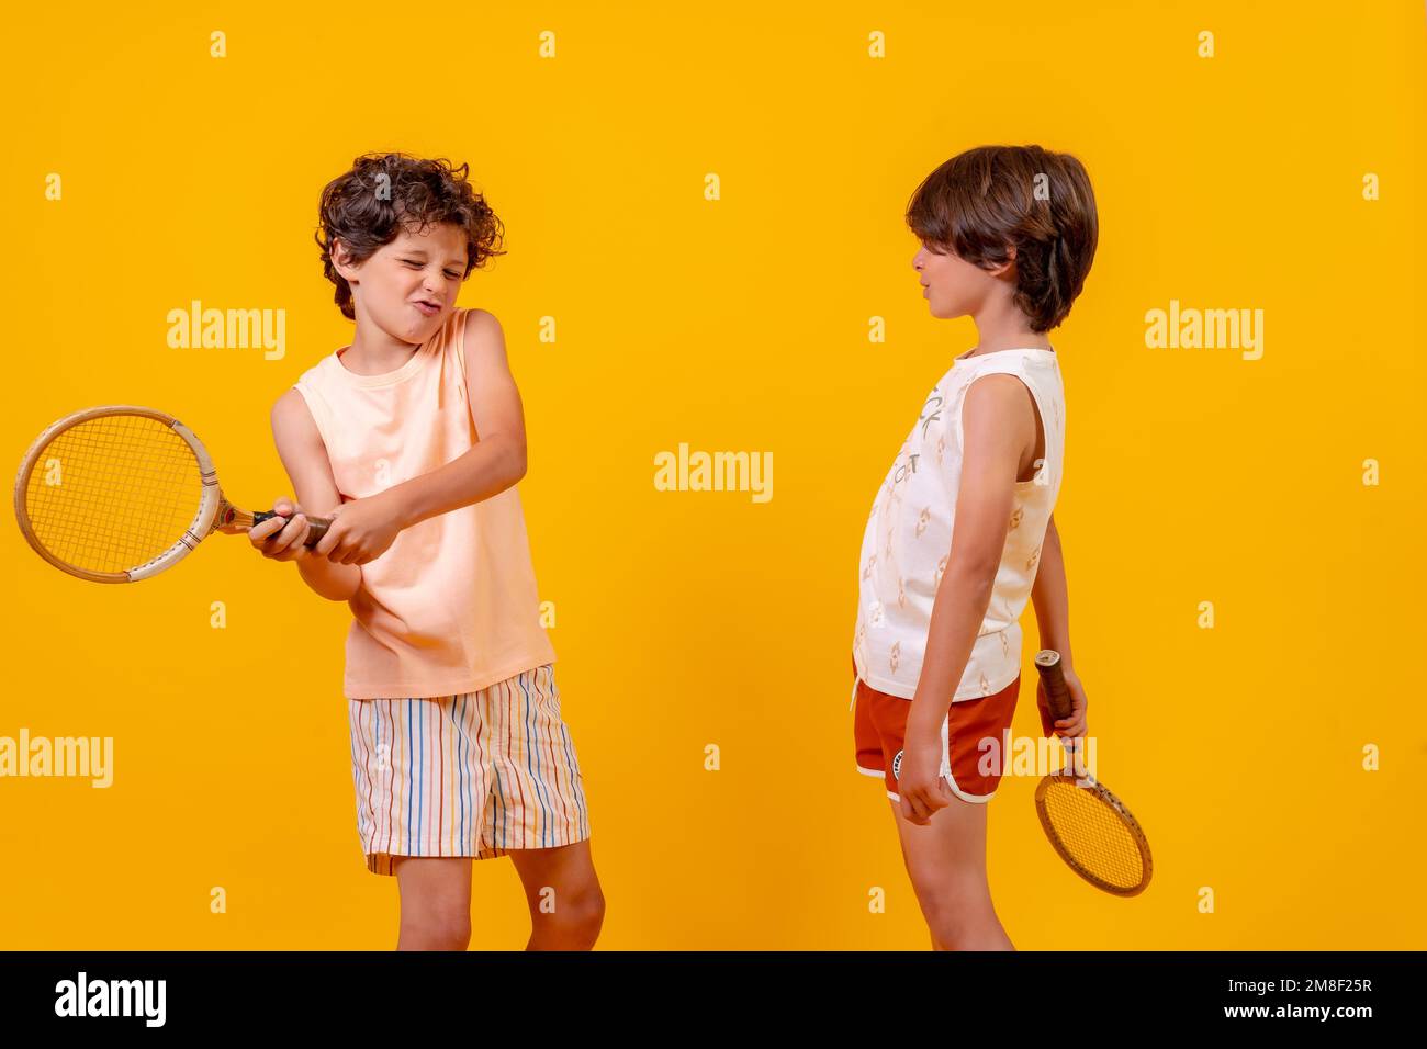
<path fill-rule="evenodd" d="M 479 692 L 347 704 L 357 833 L 372 873 L 392 873 L 401 856 L 489 859 L 589 836 L 549 664 Z"/>

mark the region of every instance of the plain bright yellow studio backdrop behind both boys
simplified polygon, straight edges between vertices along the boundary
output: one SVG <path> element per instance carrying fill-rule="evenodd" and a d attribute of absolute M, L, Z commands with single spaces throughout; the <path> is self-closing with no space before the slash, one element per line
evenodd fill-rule
<path fill-rule="evenodd" d="M 370 150 L 469 161 L 509 254 L 461 304 L 504 323 L 525 398 L 601 946 L 922 949 L 853 771 L 848 649 L 876 487 L 975 327 L 928 315 L 902 211 L 959 150 L 1072 151 L 1102 234 L 1052 333 L 1056 520 L 1099 769 L 1156 875 L 1132 901 L 1082 883 L 1007 778 L 1002 921 L 1020 948 L 1421 948 L 1423 39 L 1416 1 L 30 4 L 0 44 L 0 447 L 17 465 L 68 411 L 150 404 L 270 505 L 268 408 L 351 331 L 323 184 Z M 285 310 L 285 358 L 167 348 L 194 298 Z M 1172 298 L 1264 310 L 1263 358 L 1146 348 Z M 655 491 L 681 441 L 772 451 L 773 500 Z M 0 779 L 0 948 L 394 945 L 395 882 L 357 842 L 347 608 L 241 539 L 100 587 L 0 537 L 0 735 L 116 739 L 108 791 Z M 524 943 L 508 862 L 477 865 L 474 901 L 472 948 Z"/>

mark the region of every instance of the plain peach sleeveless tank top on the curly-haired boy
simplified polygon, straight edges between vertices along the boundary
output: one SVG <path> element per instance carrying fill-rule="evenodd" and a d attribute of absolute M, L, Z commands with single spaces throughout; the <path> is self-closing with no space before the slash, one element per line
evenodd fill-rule
<path fill-rule="evenodd" d="M 457 310 L 397 371 L 358 375 L 338 350 L 294 384 L 342 502 L 428 474 L 477 444 L 462 341 L 468 313 Z M 361 572 L 348 601 L 342 684 L 351 699 L 475 692 L 555 661 L 514 485 L 401 531 Z"/>

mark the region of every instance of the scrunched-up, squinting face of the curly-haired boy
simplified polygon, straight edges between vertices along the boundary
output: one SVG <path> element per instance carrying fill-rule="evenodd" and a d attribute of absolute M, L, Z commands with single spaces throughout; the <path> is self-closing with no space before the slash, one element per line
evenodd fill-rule
<path fill-rule="evenodd" d="M 377 324 L 391 337 L 417 345 L 431 338 L 455 310 L 465 280 L 465 231 L 437 223 L 424 231 L 404 227 L 367 261 L 347 263 L 338 243 L 338 273 L 352 288 L 357 320 Z"/>

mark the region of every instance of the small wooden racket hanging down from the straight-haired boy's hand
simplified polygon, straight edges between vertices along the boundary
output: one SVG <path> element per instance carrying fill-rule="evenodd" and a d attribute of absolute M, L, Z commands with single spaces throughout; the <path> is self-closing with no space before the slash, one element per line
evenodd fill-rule
<path fill-rule="evenodd" d="M 1055 719 L 1075 714 L 1060 654 L 1036 652 L 1036 669 Z M 1052 848 L 1090 885 L 1116 896 L 1137 896 L 1150 883 L 1150 843 L 1124 802 L 1085 769 L 1076 775 L 1079 738 L 1062 738 L 1066 764 L 1036 786 L 1036 815 Z"/>

